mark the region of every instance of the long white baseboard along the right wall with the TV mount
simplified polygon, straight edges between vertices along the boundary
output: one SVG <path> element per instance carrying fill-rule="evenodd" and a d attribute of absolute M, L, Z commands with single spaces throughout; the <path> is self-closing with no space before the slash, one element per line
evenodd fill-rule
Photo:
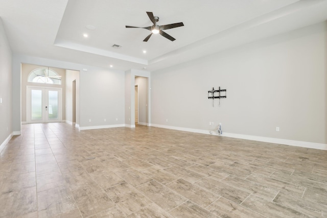
<path fill-rule="evenodd" d="M 207 135 L 211 134 L 210 133 L 211 131 L 208 131 L 208 130 L 173 127 L 173 126 L 158 125 L 158 124 L 150 124 L 149 126 L 165 128 L 165 129 L 172 129 L 172 130 L 179 130 L 179 131 L 186 131 L 186 132 L 202 133 L 202 134 L 207 134 Z M 275 143 L 275 144 L 286 144 L 287 146 L 296 146 L 296 147 L 309 148 L 309 149 L 327 150 L 327 144 L 322 144 L 322 143 L 307 142 L 307 141 L 295 141 L 295 140 L 282 139 L 282 138 L 269 138 L 269 137 L 254 136 L 254 135 L 242 135 L 242 134 L 226 133 L 226 132 L 223 132 L 222 135 L 218 135 L 218 134 L 216 134 L 215 131 L 212 131 L 212 132 L 214 133 L 214 135 L 223 136 L 223 137 L 240 138 L 240 139 L 247 139 L 247 140 L 253 140 L 253 141 L 263 141 L 263 142 L 269 142 L 269 143 Z"/>

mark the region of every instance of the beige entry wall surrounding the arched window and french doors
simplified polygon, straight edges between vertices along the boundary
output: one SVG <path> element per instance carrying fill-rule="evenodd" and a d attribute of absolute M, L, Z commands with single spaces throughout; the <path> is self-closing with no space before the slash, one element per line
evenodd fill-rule
<path fill-rule="evenodd" d="M 66 119 L 66 113 L 65 113 L 66 70 L 62 69 L 62 68 L 50 67 L 50 69 L 56 71 L 57 74 L 59 74 L 59 76 L 61 76 L 61 78 L 63 78 L 61 80 L 61 85 L 27 82 L 30 72 L 32 72 L 34 69 L 41 68 L 41 67 L 48 68 L 48 66 L 39 66 L 39 65 L 24 64 L 24 63 L 21 64 L 21 122 L 22 123 L 25 123 L 27 121 L 27 119 L 26 119 L 26 88 L 27 88 L 27 86 L 62 88 L 62 120 Z"/>

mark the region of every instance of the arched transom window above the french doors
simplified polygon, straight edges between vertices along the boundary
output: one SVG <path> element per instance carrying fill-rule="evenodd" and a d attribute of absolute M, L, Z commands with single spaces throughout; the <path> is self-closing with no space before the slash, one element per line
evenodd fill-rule
<path fill-rule="evenodd" d="M 61 76 L 52 69 L 38 68 L 30 73 L 28 82 L 61 85 Z"/>

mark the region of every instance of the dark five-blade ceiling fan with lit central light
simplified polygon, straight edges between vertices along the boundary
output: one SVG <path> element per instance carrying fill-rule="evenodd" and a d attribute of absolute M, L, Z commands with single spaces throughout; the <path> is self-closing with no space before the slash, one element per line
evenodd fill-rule
<path fill-rule="evenodd" d="M 126 26 L 126 28 L 143 28 L 143 29 L 147 29 L 150 30 L 152 33 L 150 33 L 150 35 L 148 35 L 143 41 L 147 42 L 149 40 L 149 38 L 151 37 L 152 34 L 160 34 L 161 36 L 164 36 L 165 38 L 174 41 L 175 38 L 173 38 L 172 36 L 168 35 L 166 32 L 164 32 L 163 30 L 168 30 L 168 29 L 172 29 L 172 28 L 176 28 L 176 27 L 182 27 L 184 26 L 183 22 L 177 22 L 177 23 L 171 23 L 168 25 L 157 25 L 157 22 L 159 21 L 159 17 L 155 17 L 153 16 L 152 12 L 147 12 L 151 22 L 153 23 L 152 26 L 150 27 L 132 27 L 132 26 Z"/>

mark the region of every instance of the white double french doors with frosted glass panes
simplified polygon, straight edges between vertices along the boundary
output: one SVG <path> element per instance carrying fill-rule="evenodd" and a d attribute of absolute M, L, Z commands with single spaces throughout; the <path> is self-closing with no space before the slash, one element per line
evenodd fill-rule
<path fill-rule="evenodd" d="M 28 123 L 62 121 L 62 89 L 27 86 L 26 118 Z"/>

